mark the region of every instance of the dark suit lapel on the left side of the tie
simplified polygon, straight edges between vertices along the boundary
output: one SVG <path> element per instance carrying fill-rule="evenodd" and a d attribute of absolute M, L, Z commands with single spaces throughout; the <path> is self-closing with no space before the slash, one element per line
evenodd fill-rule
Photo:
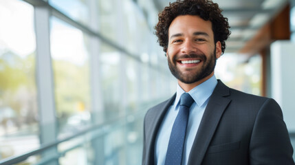
<path fill-rule="evenodd" d="M 146 144 L 149 144 L 147 147 L 147 151 L 148 151 L 148 155 L 147 155 L 147 162 L 146 164 L 154 164 L 154 151 L 155 151 L 155 137 L 157 137 L 157 132 L 159 131 L 160 125 L 162 124 L 162 120 L 166 114 L 166 111 L 168 110 L 168 108 L 171 106 L 171 104 L 173 103 L 173 101 L 175 100 L 176 94 L 174 96 L 172 96 L 172 98 L 170 98 L 169 100 L 167 100 L 166 102 L 163 102 L 162 104 L 160 104 L 159 107 L 154 107 L 153 109 L 155 109 L 155 111 L 157 111 L 156 113 L 154 113 L 152 120 L 149 120 L 149 123 L 151 124 L 150 128 L 148 131 L 146 131 L 146 133 L 151 133 L 151 135 L 149 135 L 150 137 L 146 138 L 147 140 L 149 140 L 149 142 L 146 142 Z M 152 110 L 152 109 L 151 109 Z"/>

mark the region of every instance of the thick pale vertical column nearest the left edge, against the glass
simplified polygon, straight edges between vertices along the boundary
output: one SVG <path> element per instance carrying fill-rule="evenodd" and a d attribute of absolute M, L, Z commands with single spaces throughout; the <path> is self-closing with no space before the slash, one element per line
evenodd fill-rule
<path fill-rule="evenodd" d="M 36 84 L 39 99 L 39 126 L 41 144 L 54 142 L 57 137 L 54 101 L 54 76 L 50 55 L 50 10 L 36 6 L 34 9 L 36 31 Z M 56 147 L 43 156 L 56 153 Z M 57 162 L 52 162 L 57 164 Z"/>

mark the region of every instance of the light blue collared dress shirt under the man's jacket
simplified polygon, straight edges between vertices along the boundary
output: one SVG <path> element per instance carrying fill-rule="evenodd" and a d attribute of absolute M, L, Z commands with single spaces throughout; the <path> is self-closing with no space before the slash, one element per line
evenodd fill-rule
<path fill-rule="evenodd" d="M 184 153 L 182 155 L 182 164 L 188 164 L 188 156 L 190 149 L 193 146 L 195 135 L 199 129 L 201 118 L 203 117 L 204 111 L 207 107 L 208 100 L 217 85 L 217 79 L 212 76 L 204 83 L 201 83 L 197 87 L 188 91 L 188 94 L 192 96 L 195 102 L 190 107 L 190 115 L 188 117 L 188 126 L 186 128 L 186 140 L 184 144 Z M 164 120 L 160 126 L 159 133 L 155 139 L 155 164 L 165 164 L 166 152 L 168 148 L 168 142 L 172 130 L 174 120 L 179 110 L 179 99 L 185 91 L 177 85 L 177 92 L 175 102 L 169 107 Z"/>

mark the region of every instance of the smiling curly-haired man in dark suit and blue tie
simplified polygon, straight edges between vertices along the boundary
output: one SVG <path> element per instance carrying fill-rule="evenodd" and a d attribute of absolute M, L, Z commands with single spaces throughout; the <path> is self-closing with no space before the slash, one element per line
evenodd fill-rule
<path fill-rule="evenodd" d="M 177 0 L 159 14 L 156 35 L 178 85 L 146 113 L 142 164 L 294 164 L 278 104 L 214 76 L 228 29 L 209 0 Z"/>

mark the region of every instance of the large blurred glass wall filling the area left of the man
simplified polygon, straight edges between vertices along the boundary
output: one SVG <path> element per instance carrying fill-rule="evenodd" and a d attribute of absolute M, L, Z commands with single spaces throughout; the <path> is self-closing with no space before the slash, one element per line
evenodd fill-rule
<path fill-rule="evenodd" d="M 142 7 L 0 0 L 0 22 L 0 162 L 141 164 L 144 113 L 176 87 Z"/>

